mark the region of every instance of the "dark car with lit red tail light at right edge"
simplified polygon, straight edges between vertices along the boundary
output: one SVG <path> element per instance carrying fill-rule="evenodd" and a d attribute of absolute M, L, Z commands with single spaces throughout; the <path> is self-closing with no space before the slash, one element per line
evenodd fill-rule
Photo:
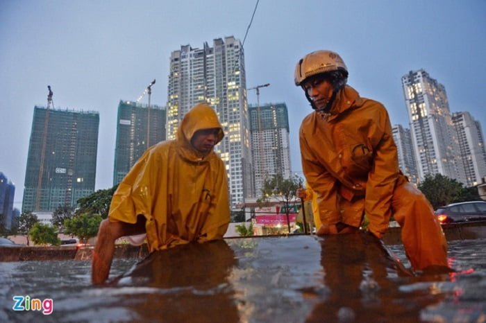
<path fill-rule="evenodd" d="M 441 224 L 486 220 L 486 202 L 460 202 L 439 207 L 435 211 Z"/>

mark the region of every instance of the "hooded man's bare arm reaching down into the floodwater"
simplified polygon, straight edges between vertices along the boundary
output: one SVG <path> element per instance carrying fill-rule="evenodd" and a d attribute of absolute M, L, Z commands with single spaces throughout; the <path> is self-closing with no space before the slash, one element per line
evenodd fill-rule
<path fill-rule="evenodd" d="M 133 236 L 145 232 L 145 218 L 139 216 L 134 225 L 126 222 L 101 222 L 97 244 L 94 247 L 91 268 L 91 281 L 94 285 L 104 283 L 110 274 L 110 267 L 115 253 L 115 241 L 122 236 Z"/>

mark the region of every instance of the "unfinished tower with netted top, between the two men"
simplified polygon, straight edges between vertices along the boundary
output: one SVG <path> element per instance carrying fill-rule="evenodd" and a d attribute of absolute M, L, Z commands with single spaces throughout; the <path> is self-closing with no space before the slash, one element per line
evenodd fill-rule
<path fill-rule="evenodd" d="M 265 177 L 290 177 L 289 114 L 285 103 L 250 106 L 251 152 L 255 194 L 260 197 Z"/>

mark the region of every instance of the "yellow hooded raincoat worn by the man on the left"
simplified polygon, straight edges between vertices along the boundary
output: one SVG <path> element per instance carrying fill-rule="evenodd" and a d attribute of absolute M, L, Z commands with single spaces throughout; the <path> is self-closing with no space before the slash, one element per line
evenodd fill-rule
<path fill-rule="evenodd" d="M 222 238 L 230 209 L 223 161 L 210 152 L 206 157 L 190 140 L 198 130 L 220 128 L 215 111 L 199 104 L 181 122 L 176 139 L 162 141 L 137 161 L 113 195 L 110 221 L 137 222 L 146 218 L 149 251 L 191 241 Z"/>

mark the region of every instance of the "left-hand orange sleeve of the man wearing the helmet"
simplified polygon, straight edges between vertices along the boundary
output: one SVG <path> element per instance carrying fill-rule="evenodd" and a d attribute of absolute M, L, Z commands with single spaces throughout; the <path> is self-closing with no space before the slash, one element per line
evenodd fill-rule
<path fill-rule="evenodd" d="M 317 194 L 319 218 L 323 225 L 334 225 L 340 222 L 340 211 L 337 200 L 337 180 L 330 175 L 324 166 L 319 164 L 312 154 L 301 128 L 299 134 L 301 146 L 302 169 L 305 180 Z"/>

